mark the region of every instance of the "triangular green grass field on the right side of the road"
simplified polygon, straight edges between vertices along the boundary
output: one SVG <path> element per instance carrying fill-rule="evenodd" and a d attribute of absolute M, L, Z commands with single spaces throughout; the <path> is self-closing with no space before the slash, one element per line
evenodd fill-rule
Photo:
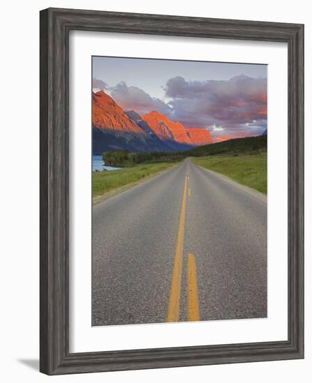
<path fill-rule="evenodd" d="M 197 157 L 193 158 L 193 162 L 267 194 L 267 153 L 236 157 Z"/>

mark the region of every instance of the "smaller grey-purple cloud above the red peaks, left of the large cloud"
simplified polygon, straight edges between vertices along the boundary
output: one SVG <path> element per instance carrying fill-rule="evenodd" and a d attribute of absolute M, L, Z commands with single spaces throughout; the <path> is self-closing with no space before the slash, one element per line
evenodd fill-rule
<path fill-rule="evenodd" d="M 134 110 L 139 114 L 159 111 L 164 114 L 171 114 L 171 107 L 166 102 L 151 97 L 137 86 L 127 86 L 124 81 L 118 83 L 110 91 L 111 97 L 126 111 Z"/>

